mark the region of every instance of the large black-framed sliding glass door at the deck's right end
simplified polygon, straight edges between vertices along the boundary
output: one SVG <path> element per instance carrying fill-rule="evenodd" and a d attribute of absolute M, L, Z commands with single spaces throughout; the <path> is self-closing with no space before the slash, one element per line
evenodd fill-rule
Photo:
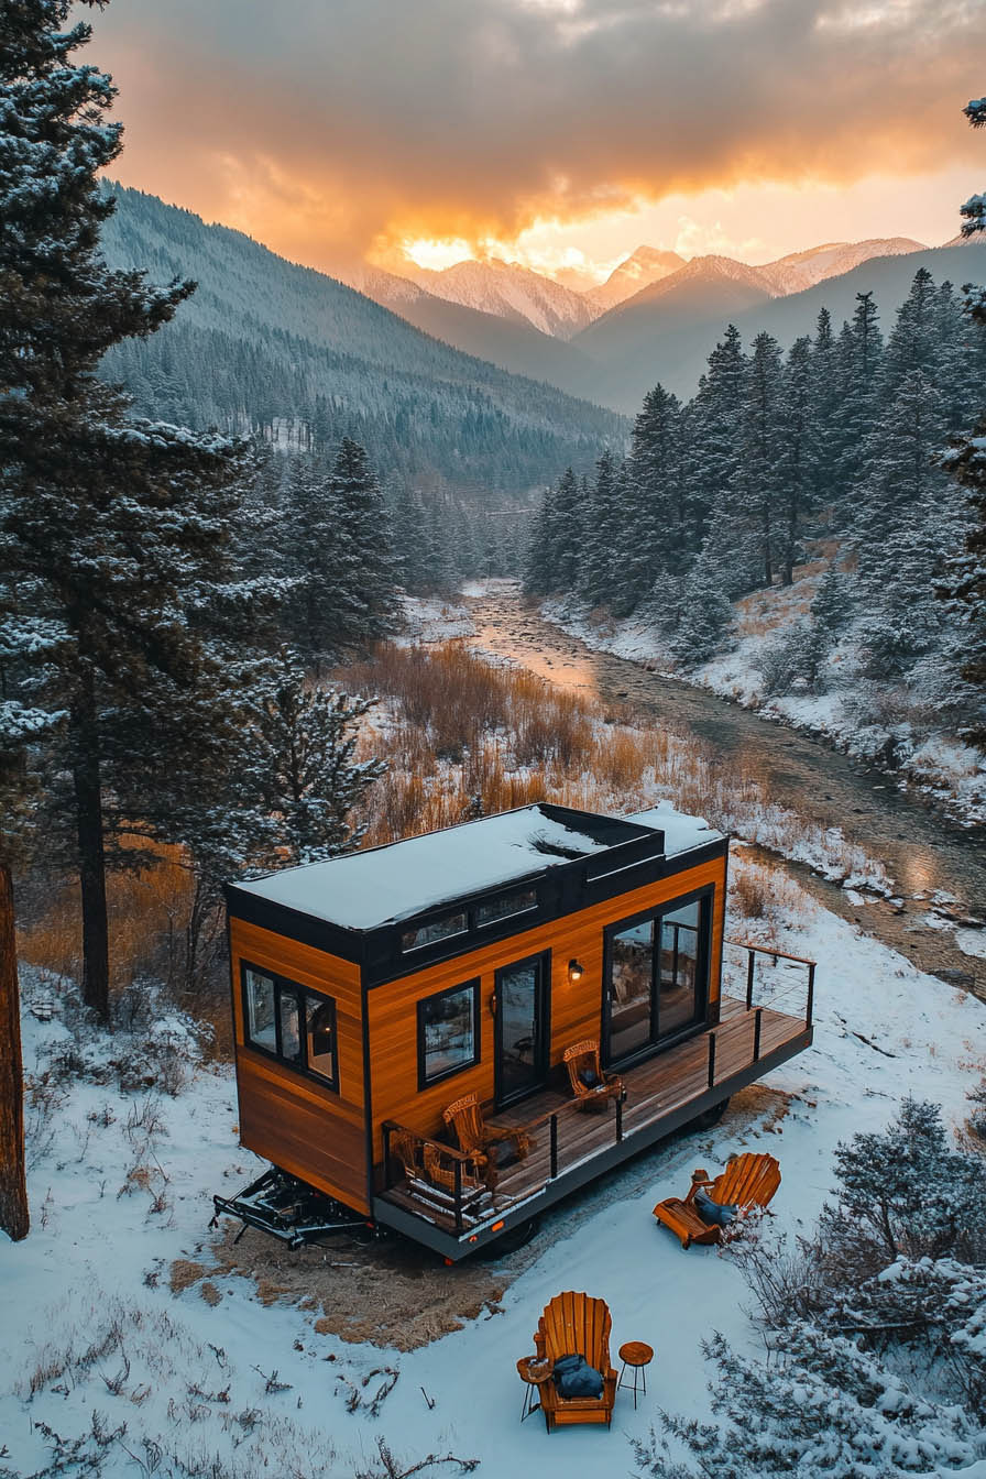
<path fill-rule="evenodd" d="M 621 1063 L 705 1016 L 711 895 L 670 904 L 606 935 L 606 1059 Z"/>

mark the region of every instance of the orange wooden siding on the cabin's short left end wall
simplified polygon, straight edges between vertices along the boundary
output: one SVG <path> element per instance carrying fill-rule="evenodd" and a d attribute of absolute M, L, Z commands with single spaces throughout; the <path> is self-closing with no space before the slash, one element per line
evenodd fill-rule
<path fill-rule="evenodd" d="M 237 918 L 229 921 L 229 952 L 241 1143 L 347 1207 L 370 1213 L 359 967 Z M 244 960 L 334 998 L 337 1093 L 245 1046 Z"/>

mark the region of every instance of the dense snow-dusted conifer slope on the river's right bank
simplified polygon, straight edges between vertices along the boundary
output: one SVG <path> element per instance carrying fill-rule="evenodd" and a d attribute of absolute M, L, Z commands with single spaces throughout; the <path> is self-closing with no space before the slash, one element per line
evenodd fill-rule
<path fill-rule="evenodd" d="M 822 309 L 786 356 L 730 325 L 693 399 L 656 386 L 625 461 L 605 454 L 591 484 L 569 470 L 547 494 L 528 590 L 639 615 L 695 667 L 729 649 L 732 600 L 822 558 L 810 608 L 751 657 L 763 691 L 838 688 L 857 726 L 982 735 L 977 618 L 953 575 L 971 515 L 948 447 L 985 383 L 986 333 L 925 268 L 885 333 L 872 293 L 840 330 Z"/>

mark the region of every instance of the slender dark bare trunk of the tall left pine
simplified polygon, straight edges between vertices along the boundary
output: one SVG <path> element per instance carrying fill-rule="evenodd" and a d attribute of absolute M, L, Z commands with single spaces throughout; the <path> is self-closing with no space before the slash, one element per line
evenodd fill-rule
<path fill-rule="evenodd" d="M 75 827 L 83 907 L 83 1000 L 109 1019 L 109 926 L 106 921 L 106 856 L 103 847 L 99 729 L 92 670 L 83 674 L 72 713 L 75 762 Z"/>

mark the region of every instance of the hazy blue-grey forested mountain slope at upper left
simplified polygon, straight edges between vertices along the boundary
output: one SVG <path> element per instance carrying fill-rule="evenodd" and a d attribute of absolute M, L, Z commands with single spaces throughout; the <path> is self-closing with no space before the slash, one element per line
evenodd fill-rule
<path fill-rule="evenodd" d="M 163 333 L 103 361 L 142 413 L 303 447 L 352 435 L 386 482 L 483 503 L 523 500 L 559 464 L 588 469 L 603 444 L 622 445 L 611 411 L 463 355 L 241 232 L 114 194 L 109 263 L 198 282 Z"/>

